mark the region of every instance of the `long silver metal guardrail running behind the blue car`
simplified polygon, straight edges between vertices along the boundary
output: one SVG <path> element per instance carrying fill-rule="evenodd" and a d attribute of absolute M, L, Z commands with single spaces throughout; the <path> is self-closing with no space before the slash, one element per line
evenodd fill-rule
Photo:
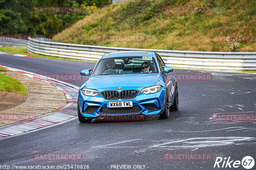
<path fill-rule="evenodd" d="M 116 51 L 155 51 L 174 68 L 204 70 L 256 70 L 256 52 L 202 52 L 141 48 L 122 48 L 47 42 L 28 38 L 28 52 L 81 60 L 97 61 L 104 53 Z"/>

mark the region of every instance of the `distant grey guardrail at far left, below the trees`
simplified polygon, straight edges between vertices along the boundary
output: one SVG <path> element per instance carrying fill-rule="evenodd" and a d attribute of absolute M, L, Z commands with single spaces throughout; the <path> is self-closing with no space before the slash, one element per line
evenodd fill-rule
<path fill-rule="evenodd" d="M 49 38 L 33 38 L 41 41 L 51 41 Z M 0 36 L 0 46 L 27 46 L 27 39 L 17 39 L 10 37 L 1 37 Z"/>

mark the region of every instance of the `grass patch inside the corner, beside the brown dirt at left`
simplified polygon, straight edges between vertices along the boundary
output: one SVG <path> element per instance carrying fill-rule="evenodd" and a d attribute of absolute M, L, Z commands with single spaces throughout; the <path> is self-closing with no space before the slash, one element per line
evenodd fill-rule
<path fill-rule="evenodd" d="M 0 67 L 0 69 L 4 68 Z M 28 94 L 27 89 L 19 80 L 4 74 L 0 74 L 0 91 Z"/>

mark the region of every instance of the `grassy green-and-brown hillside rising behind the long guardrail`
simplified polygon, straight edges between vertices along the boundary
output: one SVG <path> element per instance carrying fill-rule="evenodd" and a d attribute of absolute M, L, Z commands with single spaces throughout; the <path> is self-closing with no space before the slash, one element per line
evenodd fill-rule
<path fill-rule="evenodd" d="M 211 10 L 186 13 L 177 12 L 174 7 L 190 10 L 209 7 Z M 255 9 L 254 0 L 135 0 L 102 8 L 55 35 L 52 41 L 131 48 L 255 52 Z M 214 42 L 215 35 L 246 35 L 247 38 L 254 35 L 254 39 L 239 43 Z M 129 36 L 142 37 L 131 41 Z"/>

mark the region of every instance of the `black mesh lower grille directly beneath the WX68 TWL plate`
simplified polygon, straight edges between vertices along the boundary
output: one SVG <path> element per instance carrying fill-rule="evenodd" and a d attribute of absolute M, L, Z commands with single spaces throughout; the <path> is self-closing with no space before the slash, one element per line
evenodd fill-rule
<path fill-rule="evenodd" d="M 103 107 L 102 114 L 111 115 L 111 114 L 128 114 L 128 113 L 138 113 L 141 110 L 139 106 L 132 107 L 119 107 L 119 108 L 107 108 Z"/>

